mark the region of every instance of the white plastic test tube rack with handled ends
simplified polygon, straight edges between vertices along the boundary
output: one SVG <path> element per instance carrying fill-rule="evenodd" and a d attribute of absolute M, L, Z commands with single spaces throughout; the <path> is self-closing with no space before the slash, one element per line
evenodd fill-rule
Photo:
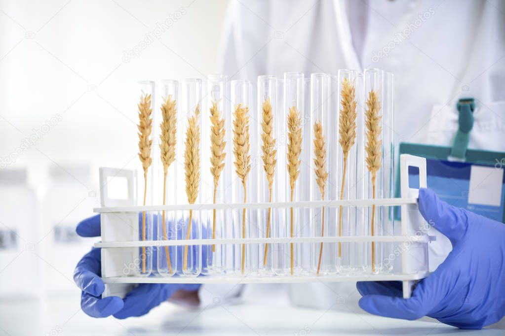
<path fill-rule="evenodd" d="M 139 283 L 199 283 L 199 284 L 247 284 L 247 283 L 308 283 L 308 282 L 341 282 L 341 281 L 401 281 L 403 297 L 411 296 L 414 284 L 429 274 L 428 243 L 435 240 L 434 236 L 426 234 L 426 222 L 422 218 L 417 204 L 419 189 L 409 186 L 409 167 L 419 169 L 419 187 L 427 187 L 426 159 L 402 154 L 400 155 L 400 190 L 399 198 L 378 199 L 345 199 L 330 201 L 296 201 L 282 203 L 247 203 L 247 204 L 194 204 L 166 206 L 137 206 L 135 204 L 135 172 L 126 169 L 100 168 L 101 208 L 93 209 L 100 214 L 102 241 L 94 247 L 102 251 L 102 279 L 105 291 L 102 297 L 124 297 L 126 293 Z M 125 178 L 127 195 L 110 198 L 108 181 L 111 178 Z M 389 236 L 331 236 L 331 237 L 282 237 L 282 238 L 219 238 L 219 239 L 180 239 L 180 240 L 140 240 L 138 239 L 138 221 L 140 212 L 181 211 L 181 210 L 212 210 L 212 209 L 267 209 L 267 208 L 317 208 L 317 207 L 401 207 L 401 234 Z M 277 243 L 371 243 L 392 242 L 408 243 L 409 248 L 399 251 L 401 272 L 399 273 L 368 273 L 368 274 L 332 274 L 316 275 L 282 275 L 262 277 L 228 277 L 223 275 L 210 276 L 172 276 L 161 277 L 151 275 L 141 277 L 124 273 L 124 265 L 138 259 L 139 248 L 142 246 L 186 246 L 211 244 L 277 244 Z M 128 251 L 128 252 L 125 252 Z"/>

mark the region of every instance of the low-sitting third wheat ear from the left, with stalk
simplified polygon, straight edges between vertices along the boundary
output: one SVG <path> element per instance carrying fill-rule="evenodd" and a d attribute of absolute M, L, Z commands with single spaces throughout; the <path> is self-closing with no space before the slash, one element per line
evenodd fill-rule
<path fill-rule="evenodd" d="M 188 128 L 186 130 L 186 148 L 184 150 L 184 171 L 186 175 L 186 196 L 189 204 L 194 204 L 198 196 L 198 185 L 200 183 L 200 127 L 198 126 L 198 116 L 200 105 L 197 104 L 192 116 L 188 117 Z M 186 239 L 191 237 L 191 226 L 193 224 L 193 211 L 189 211 L 188 231 Z M 188 245 L 184 246 L 183 270 L 187 268 Z"/>

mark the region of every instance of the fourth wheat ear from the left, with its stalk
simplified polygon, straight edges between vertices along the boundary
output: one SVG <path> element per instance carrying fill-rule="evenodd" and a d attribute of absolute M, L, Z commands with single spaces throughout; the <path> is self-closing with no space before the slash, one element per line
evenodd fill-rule
<path fill-rule="evenodd" d="M 216 204 L 216 193 L 218 190 L 219 177 L 224 168 L 224 141 L 225 128 L 224 118 L 221 117 L 221 111 L 218 109 L 218 102 L 212 102 L 211 112 L 211 174 L 214 177 L 214 201 Z M 212 214 L 212 239 L 216 238 L 216 209 Z M 216 251 L 216 245 L 212 244 L 212 252 Z"/>

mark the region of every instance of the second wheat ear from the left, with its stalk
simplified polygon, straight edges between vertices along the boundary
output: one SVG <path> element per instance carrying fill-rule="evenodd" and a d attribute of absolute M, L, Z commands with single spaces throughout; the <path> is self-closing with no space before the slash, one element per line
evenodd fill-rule
<path fill-rule="evenodd" d="M 175 161 L 175 144 L 177 132 L 177 109 L 176 101 L 169 95 L 161 105 L 162 122 L 161 128 L 161 144 L 160 154 L 161 162 L 163 163 L 163 205 L 165 205 L 166 187 L 167 187 L 167 172 L 168 167 Z M 165 223 L 165 210 L 163 210 L 163 239 L 167 240 L 167 225 Z M 168 246 L 165 246 L 167 254 L 168 272 L 172 274 L 172 264 L 168 253 Z"/>

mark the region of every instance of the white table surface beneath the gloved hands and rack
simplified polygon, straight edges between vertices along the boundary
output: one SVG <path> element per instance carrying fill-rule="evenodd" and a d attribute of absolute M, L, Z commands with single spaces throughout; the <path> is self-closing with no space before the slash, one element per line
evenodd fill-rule
<path fill-rule="evenodd" d="M 140 318 L 94 319 L 79 294 L 46 299 L 0 298 L 0 335 L 505 335 L 505 330 L 458 330 L 433 320 L 403 321 L 363 311 L 226 303 L 186 309 L 170 303 Z"/>

